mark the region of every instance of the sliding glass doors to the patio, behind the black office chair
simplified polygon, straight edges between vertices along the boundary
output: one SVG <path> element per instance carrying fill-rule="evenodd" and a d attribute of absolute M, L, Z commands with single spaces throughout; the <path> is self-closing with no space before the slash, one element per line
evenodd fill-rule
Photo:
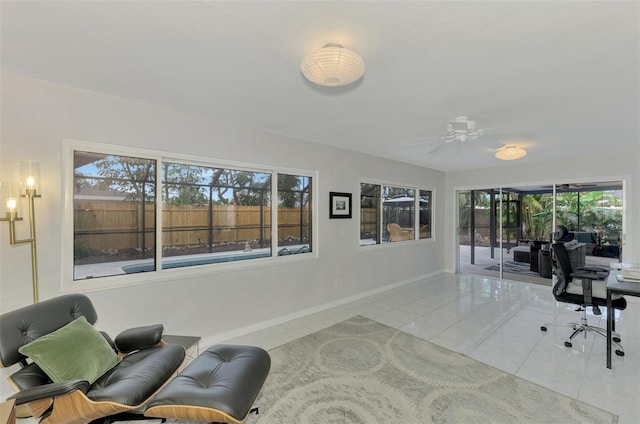
<path fill-rule="evenodd" d="M 458 272 L 550 285 L 557 241 L 575 266 L 618 261 L 622 194 L 620 181 L 460 190 Z"/>

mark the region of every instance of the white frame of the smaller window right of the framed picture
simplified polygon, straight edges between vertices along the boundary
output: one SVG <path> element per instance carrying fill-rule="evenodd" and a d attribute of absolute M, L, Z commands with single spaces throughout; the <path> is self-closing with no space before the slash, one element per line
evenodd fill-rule
<path fill-rule="evenodd" d="M 435 220 L 435 214 L 434 214 L 434 205 L 436 203 L 436 189 L 435 187 L 429 187 L 429 186 L 424 186 L 424 185 L 415 185 L 415 184 L 407 184 L 407 183 L 394 183 L 394 182 L 388 182 L 388 181 L 380 181 L 380 180 L 370 180 L 370 179 L 363 179 L 360 180 L 360 184 L 359 184 L 359 191 L 361 193 L 362 191 L 362 185 L 363 184 L 368 184 L 368 185 L 377 185 L 379 187 L 378 192 L 380 193 L 379 199 L 378 199 L 378 237 L 376 240 L 376 243 L 371 243 L 371 244 L 362 244 L 362 239 L 360 238 L 361 234 L 360 231 L 358 231 L 358 244 L 359 247 L 361 249 L 364 250 L 371 250 L 371 246 L 395 246 L 395 245 L 405 245 L 404 242 L 408 242 L 410 244 L 412 243 L 431 243 L 435 241 L 436 238 L 436 232 L 435 232 L 435 225 L 434 225 L 434 220 Z M 402 188 L 402 189 L 407 189 L 407 190 L 413 190 L 414 192 L 414 216 L 413 216 L 413 228 L 414 228 L 414 238 L 413 239 L 409 239 L 409 240 L 402 240 L 400 242 L 389 242 L 389 241 L 384 241 L 382 235 L 384 234 L 384 232 L 386 232 L 386 228 L 384 228 L 384 198 L 382 196 L 382 193 L 384 192 L 383 187 L 392 187 L 392 188 Z M 423 191 L 428 191 L 431 193 L 431 205 L 430 205 L 430 209 L 429 209 L 429 215 L 430 215 L 430 237 L 424 237 L 424 238 L 420 238 L 420 193 Z M 362 219 L 362 215 L 361 215 L 361 211 L 360 208 L 362 206 L 362 201 L 358 202 L 358 228 L 362 228 L 361 227 L 361 219 Z"/>

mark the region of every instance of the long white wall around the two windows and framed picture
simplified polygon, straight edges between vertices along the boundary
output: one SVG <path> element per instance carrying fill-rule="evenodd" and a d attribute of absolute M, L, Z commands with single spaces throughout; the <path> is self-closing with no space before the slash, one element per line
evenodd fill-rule
<path fill-rule="evenodd" d="M 41 166 L 41 300 L 61 294 L 63 138 L 319 172 L 317 258 L 223 273 L 212 268 L 205 276 L 88 293 L 98 326 L 111 334 L 162 322 L 166 332 L 208 337 L 444 269 L 444 252 L 433 241 L 360 248 L 357 214 L 328 219 L 329 191 L 351 192 L 358 203 L 360 180 L 366 178 L 434 187 L 439 199 L 441 172 L 22 76 L 3 73 L 1 83 L 0 179 L 17 180 L 20 160 Z M 443 221 L 443 211 L 436 205 L 436 223 Z M 26 245 L 9 246 L 8 225 L 0 224 L 0 310 L 8 311 L 32 301 L 30 254 Z"/>

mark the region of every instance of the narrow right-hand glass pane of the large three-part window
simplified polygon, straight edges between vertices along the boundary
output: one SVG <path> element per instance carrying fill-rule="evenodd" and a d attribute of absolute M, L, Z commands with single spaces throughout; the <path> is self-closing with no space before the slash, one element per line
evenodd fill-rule
<path fill-rule="evenodd" d="M 311 252 L 311 177 L 278 174 L 278 256 Z"/>

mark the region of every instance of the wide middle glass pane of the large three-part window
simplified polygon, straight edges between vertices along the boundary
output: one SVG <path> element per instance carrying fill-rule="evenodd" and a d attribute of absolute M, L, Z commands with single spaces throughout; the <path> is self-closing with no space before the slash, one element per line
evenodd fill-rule
<path fill-rule="evenodd" d="M 271 256 L 271 174 L 165 162 L 162 268 Z"/>

